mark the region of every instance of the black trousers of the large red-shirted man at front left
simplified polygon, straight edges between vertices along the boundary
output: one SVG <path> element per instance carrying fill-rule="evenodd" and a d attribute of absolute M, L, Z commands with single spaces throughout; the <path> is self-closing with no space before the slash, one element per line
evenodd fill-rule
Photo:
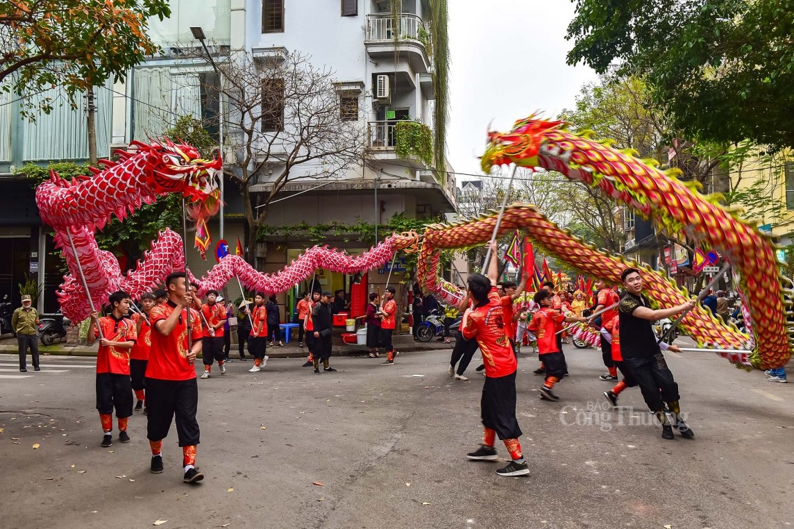
<path fill-rule="evenodd" d="M 198 445 L 198 384 L 196 379 L 146 379 L 148 423 L 146 438 L 161 441 L 168 436 L 171 422 L 176 418 L 179 446 Z"/>

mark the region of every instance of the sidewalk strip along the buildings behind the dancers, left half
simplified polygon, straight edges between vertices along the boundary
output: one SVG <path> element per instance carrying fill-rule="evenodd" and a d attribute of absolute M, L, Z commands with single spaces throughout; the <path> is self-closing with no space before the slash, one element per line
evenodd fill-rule
<path fill-rule="evenodd" d="M 401 334 L 395 336 L 395 349 L 401 353 L 410 351 L 433 351 L 437 349 L 451 349 L 454 342 L 451 344 L 444 344 L 438 342 L 434 338 L 430 342 L 414 342 L 410 334 Z M 65 343 L 57 343 L 53 346 L 42 346 L 39 344 L 39 353 L 52 354 L 57 356 L 72 356 L 72 357 L 95 357 L 97 355 L 98 345 L 94 346 L 67 346 Z M 246 349 L 247 351 L 247 349 Z M 2 354 L 18 354 L 17 340 L 14 338 L 0 338 L 0 353 Z M 236 360 L 237 344 L 232 345 L 231 358 Z M 292 340 L 285 344 L 283 347 L 275 346 L 268 347 L 268 357 L 271 358 L 299 358 L 308 354 L 306 349 L 298 347 L 298 342 Z M 340 357 L 355 357 L 367 354 L 367 348 L 364 346 L 333 346 L 333 355 Z"/>

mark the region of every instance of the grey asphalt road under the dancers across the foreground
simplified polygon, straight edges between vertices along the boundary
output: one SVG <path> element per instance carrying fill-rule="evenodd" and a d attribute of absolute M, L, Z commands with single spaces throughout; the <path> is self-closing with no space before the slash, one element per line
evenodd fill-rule
<path fill-rule="evenodd" d="M 567 346 L 571 347 L 571 346 Z M 668 355 L 696 439 L 661 439 L 637 388 L 607 407 L 593 349 L 566 349 L 559 403 L 519 361 L 518 420 L 530 477 L 470 462 L 482 376 L 446 375 L 449 351 L 394 366 L 333 358 L 233 362 L 199 383 L 199 485 L 182 483 L 175 429 L 148 472 L 145 416 L 103 449 L 93 361 L 45 357 L 17 378 L 0 355 L 0 527 L 789 527 L 794 384 L 711 353 Z M 523 355 L 522 355 L 523 356 Z M 29 365 L 29 368 L 31 366 Z M 200 366 L 197 366 L 200 369 Z M 34 444 L 38 445 L 34 449 Z M 499 455 L 507 452 L 497 444 Z M 316 485 L 322 484 L 322 485 Z"/>

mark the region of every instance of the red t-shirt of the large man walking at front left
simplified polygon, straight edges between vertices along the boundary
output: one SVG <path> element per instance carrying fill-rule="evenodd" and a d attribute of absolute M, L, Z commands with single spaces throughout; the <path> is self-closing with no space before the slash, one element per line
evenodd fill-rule
<path fill-rule="evenodd" d="M 182 309 L 171 334 L 165 336 L 156 330 L 157 322 L 168 319 L 176 310 L 171 300 L 152 308 L 152 349 L 146 365 L 146 376 L 158 380 L 190 380 L 196 377 L 195 367 L 187 361 L 187 311 Z M 191 343 L 201 339 L 202 330 L 198 311 L 191 308 Z"/>

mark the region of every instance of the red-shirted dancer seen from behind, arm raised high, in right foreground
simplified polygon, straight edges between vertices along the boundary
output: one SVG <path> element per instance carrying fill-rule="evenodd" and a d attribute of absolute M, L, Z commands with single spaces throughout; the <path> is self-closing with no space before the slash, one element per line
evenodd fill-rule
<path fill-rule="evenodd" d="M 529 475 L 529 466 L 521 452 L 521 428 L 515 418 L 515 360 L 510 340 L 505 334 L 504 309 L 496 292 L 499 259 L 496 243 L 491 242 L 491 264 L 488 276 L 472 274 L 468 277 L 466 295 L 474 308 L 466 309 L 461 332 L 464 338 L 475 338 L 485 364 L 485 384 L 480 398 L 480 416 L 484 427 L 483 444 L 466 458 L 472 461 L 496 461 L 496 435 L 504 442 L 511 462 L 496 471 L 499 476 Z"/>

